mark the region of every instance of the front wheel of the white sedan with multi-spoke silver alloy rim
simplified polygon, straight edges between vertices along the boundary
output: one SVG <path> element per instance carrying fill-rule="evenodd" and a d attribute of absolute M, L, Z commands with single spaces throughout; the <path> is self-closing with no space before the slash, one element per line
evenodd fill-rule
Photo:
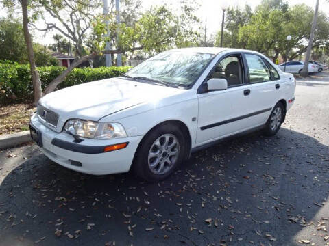
<path fill-rule="evenodd" d="M 148 182 L 159 182 L 168 178 L 182 163 L 184 146 L 184 134 L 178 126 L 158 126 L 147 133 L 138 146 L 132 165 L 134 174 Z"/>

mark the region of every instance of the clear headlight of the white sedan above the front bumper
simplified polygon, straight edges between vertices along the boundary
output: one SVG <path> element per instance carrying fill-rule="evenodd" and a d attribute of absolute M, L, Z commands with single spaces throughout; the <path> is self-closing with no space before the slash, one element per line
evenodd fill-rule
<path fill-rule="evenodd" d="M 98 123 L 89 120 L 68 120 L 64 126 L 64 130 L 90 139 L 115 139 L 119 137 L 127 137 L 125 129 L 119 123 Z"/>

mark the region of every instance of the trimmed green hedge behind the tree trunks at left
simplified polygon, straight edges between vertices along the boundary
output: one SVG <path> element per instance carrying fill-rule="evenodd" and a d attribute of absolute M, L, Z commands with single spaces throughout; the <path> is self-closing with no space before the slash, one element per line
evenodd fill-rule
<path fill-rule="evenodd" d="M 75 68 L 64 81 L 58 85 L 58 89 L 117 77 L 129 69 L 129 66 L 123 67 L 101 67 L 101 68 Z M 49 85 L 62 71 L 63 66 L 45 66 L 38 67 L 42 90 Z M 32 102 L 33 87 L 29 65 L 12 63 L 10 61 L 0 61 L 0 104 L 12 102 Z"/>

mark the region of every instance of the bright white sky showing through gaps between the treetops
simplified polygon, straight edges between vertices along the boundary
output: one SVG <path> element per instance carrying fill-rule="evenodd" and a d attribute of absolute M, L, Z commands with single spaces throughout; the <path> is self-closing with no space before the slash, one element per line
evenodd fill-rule
<path fill-rule="evenodd" d="M 151 6 L 163 5 L 166 3 L 169 6 L 177 6 L 177 2 L 179 0 L 142 0 L 142 8 L 147 10 L 151 8 Z M 207 21 L 207 37 L 209 37 L 212 33 L 216 33 L 221 28 L 221 18 L 222 18 L 222 10 L 221 3 L 226 2 L 229 3 L 230 6 L 236 6 L 243 8 L 245 4 L 248 4 L 254 9 L 258 4 L 260 4 L 261 0 L 197 0 L 199 1 L 200 8 L 197 10 L 196 14 L 199 19 L 204 24 Z M 313 9 L 315 8 L 316 0 L 288 0 L 289 5 L 295 5 L 300 3 L 305 3 L 309 5 Z M 329 3 L 325 0 L 320 0 L 319 10 L 325 12 L 329 16 Z M 5 9 L 0 9 L 0 16 L 5 16 Z M 45 33 L 35 31 L 36 42 L 40 42 L 41 44 L 49 45 L 53 43 L 52 36 L 53 32 L 49 32 L 45 35 Z"/>

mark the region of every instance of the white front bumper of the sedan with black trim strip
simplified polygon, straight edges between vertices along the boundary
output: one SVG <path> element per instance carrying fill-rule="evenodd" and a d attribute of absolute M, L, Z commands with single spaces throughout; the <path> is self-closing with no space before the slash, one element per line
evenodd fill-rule
<path fill-rule="evenodd" d="M 42 147 L 40 149 L 49 159 L 64 167 L 85 174 L 103 175 L 128 172 L 138 144 L 143 138 L 143 136 L 136 136 L 110 140 L 84 139 L 81 143 L 73 143 L 73 136 L 52 131 L 38 120 L 36 114 L 32 116 L 31 124 L 42 133 Z M 84 151 L 72 151 L 65 148 L 65 146 L 60 148 L 56 144 L 58 142 L 69 143 L 70 146 L 75 146 L 75 148 Z M 112 152 L 99 151 L 104 146 L 126 142 L 128 142 L 128 145 L 123 149 Z M 79 148 L 79 145 L 82 148 Z M 95 152 L 94 150 L 98 151 Z"/>

